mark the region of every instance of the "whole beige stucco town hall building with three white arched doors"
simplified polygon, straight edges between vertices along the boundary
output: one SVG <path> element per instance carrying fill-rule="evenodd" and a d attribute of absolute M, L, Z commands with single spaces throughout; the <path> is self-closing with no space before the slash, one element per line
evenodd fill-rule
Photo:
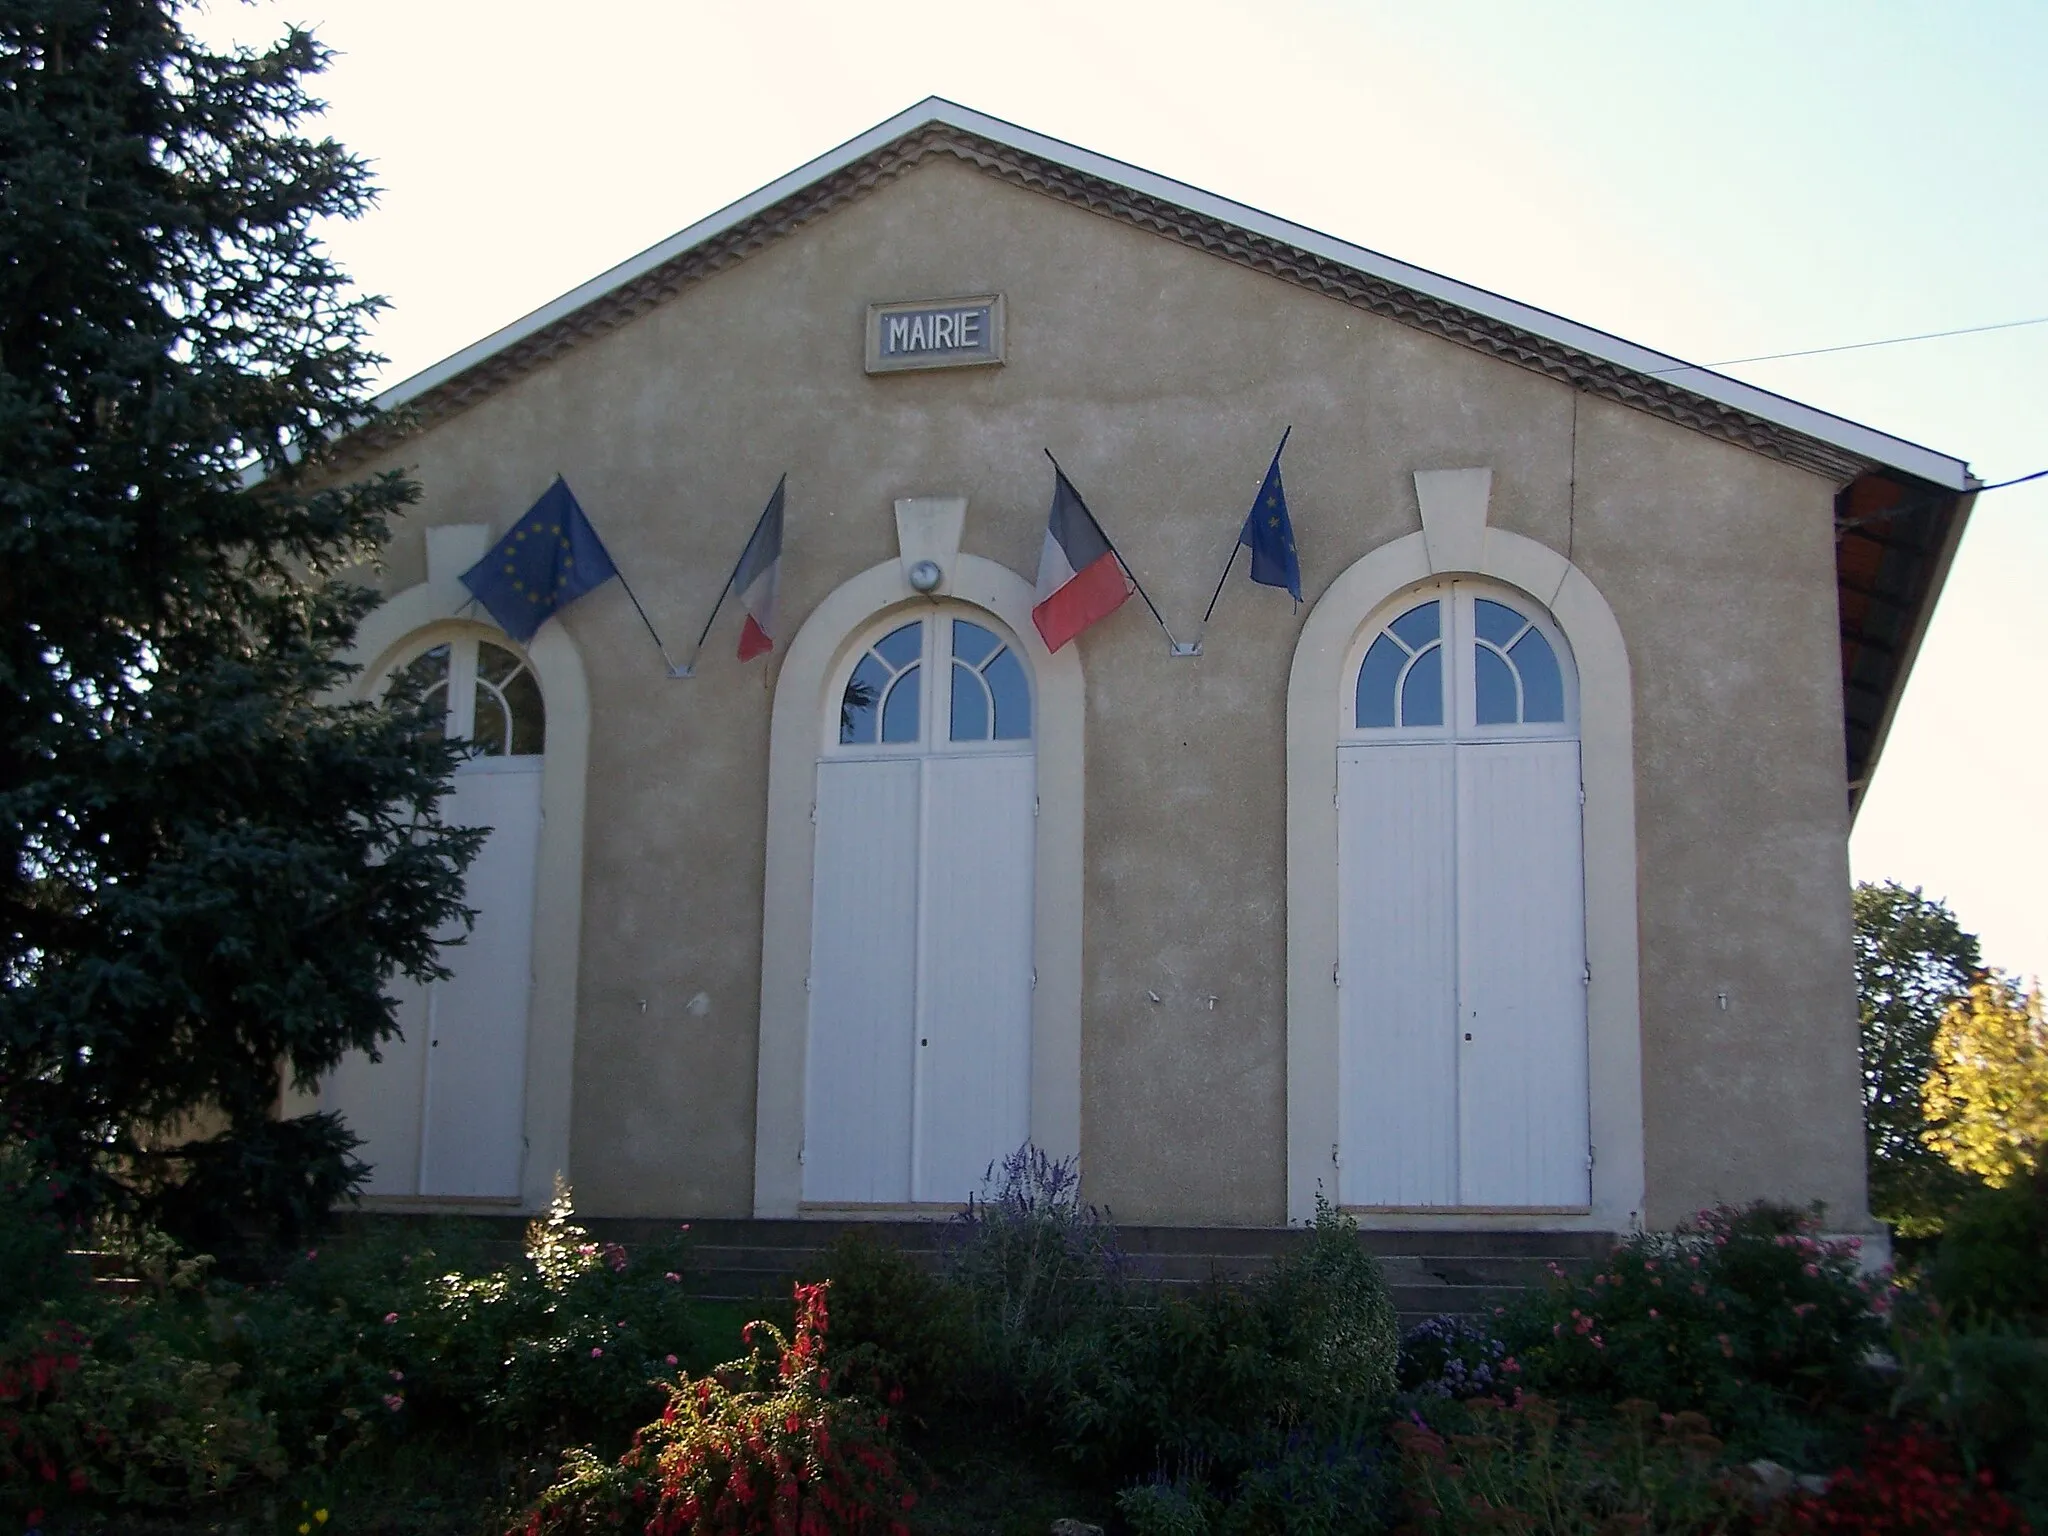
<path fill-rule="evenodd" d="M 958 295 L 999 362 L 864 367 Z M 1028 1133 L 1159 1225 L 1868 1227 L 1847 831 L 1960 461 L 946 102 L 389 403 L 360 686 L 545 725 L 461 791 L 469 993 L 324 1094 L 373 1202 L 932 1210 Z M 1200 627 L 1288 426 L 1305 602 Z M 1042 449 L 1198 655 L 1139 602 L 1044 649 Z M 616 584 L 520 647 L 459 582 L 563 475 L 690 637 L 784 473 L 745 666 L 731 610 L 672 678 Z M 848 733 L 856 674 L 920 719 Z"/>

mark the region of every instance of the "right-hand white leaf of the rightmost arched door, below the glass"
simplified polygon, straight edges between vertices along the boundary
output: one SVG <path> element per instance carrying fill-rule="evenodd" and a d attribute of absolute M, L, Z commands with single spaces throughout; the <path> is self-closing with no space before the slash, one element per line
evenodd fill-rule
<path fill-rule="evenodd" d="M 1460 1196 L 1475 1206 L 1583 1206 L 1591 1176 L 1579 743 L 1456 752 Z"/>

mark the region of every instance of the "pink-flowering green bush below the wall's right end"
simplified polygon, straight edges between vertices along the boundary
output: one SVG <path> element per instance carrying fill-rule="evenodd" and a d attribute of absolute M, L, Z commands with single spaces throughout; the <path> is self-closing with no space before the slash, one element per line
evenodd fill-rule
<path fill-rule="evenodd" d="M 1675 1233 L 1620 1243 L 1589 1276 L 1507 1311 L 1501 1372 L 1528 1389 L 1616 1403 L 1651 1399 L 1755 1423 L 1870 1386 L 1888 1290 L 1855 1239 L 1823 1241 L 1812 1212 L 1716 1206 Z M 1874 1397 L 1872 1397 L 1874 1401 Z"/>

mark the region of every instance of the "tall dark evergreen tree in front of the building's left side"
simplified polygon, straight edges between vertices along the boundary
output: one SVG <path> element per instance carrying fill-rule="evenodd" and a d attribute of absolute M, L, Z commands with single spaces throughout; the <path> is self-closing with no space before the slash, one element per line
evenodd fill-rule
<path fill-rule="evenodd" d="M 80 1204 L 291 1225 L 362 1169 L 279 1090 L 391 1036 L 477 834 L 416 709 L 330 702 L 418 489 L 324 459 L 379 362 L 328 55 L 184 14 L 0 0 L 0 1112 Z"/>

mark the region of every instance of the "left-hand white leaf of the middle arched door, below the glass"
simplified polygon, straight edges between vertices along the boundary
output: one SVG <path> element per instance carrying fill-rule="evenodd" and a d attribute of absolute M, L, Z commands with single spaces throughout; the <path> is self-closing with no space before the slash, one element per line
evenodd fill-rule
<path fill-rule="evenodd" d="M 803 1198 L 911 1198 L 920 764 L 821 762 Z"/>

